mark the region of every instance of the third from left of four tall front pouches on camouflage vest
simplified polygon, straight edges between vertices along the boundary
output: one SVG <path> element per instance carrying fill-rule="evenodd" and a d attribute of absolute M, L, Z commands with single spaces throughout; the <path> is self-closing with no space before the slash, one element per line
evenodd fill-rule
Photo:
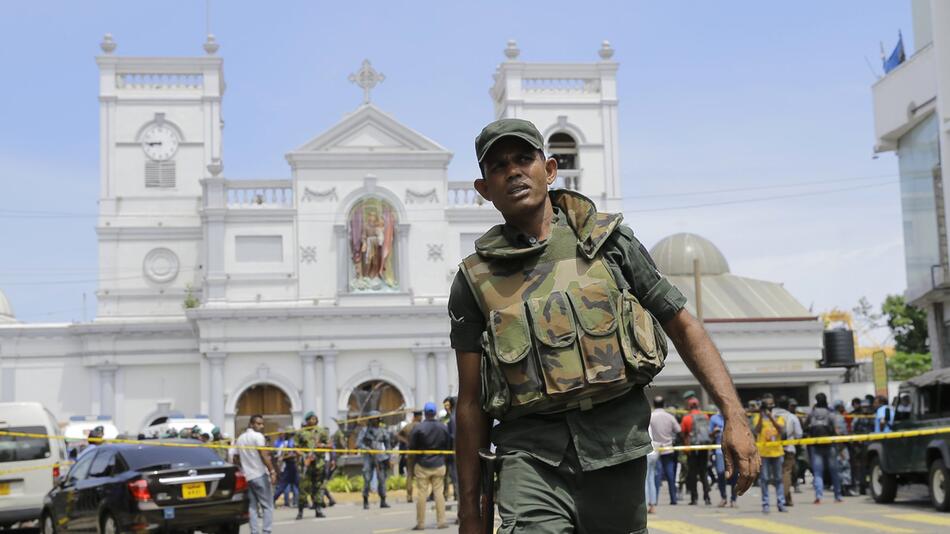
<path fill-rule="evenodd" d="M 606 384 L 627 377 L 617 328 L 620 295 L 603 281 L 568 290 L 577 322 L 584 371 L 591 384 Z"/>

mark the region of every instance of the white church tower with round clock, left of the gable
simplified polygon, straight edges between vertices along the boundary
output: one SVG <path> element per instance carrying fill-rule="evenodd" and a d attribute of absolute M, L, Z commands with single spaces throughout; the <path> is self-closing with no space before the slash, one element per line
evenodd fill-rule
<path fill-rule="evenodd" d="M 221 158 L 223 62 L 100 44 L 97 321 L 181 316 L 203 278 L 200 180 Z M 198 296 L 198 295 L 195 295 Z"/>

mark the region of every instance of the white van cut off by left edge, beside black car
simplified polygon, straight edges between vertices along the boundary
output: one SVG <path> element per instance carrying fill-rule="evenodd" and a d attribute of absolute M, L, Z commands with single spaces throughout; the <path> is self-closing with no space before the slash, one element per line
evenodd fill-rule
<path fill-rule="evenodd" d="M 38 402 L 2 402 L 0 430 L 56 436 L 59 425 Z M 0 527 L 40 518 L 65 460 L 61 439 L 0 434 Z"/>

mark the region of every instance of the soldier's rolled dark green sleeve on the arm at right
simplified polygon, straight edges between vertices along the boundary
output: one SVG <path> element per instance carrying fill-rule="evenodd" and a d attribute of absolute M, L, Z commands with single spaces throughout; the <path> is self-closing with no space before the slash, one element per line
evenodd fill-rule
<path fill-rule="evenodd" d="M 686 306 L 686 297 L 660 274 L 650 253 L 628 226 L 618 227 L 604 246 L 605 259 L 619 268 L 630 291 L 661 324 Z"/>

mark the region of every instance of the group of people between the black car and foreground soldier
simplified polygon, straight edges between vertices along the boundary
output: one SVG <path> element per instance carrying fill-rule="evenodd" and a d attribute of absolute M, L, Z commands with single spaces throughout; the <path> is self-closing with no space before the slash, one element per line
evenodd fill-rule
<path fill-rule="evenodd" d="M 362 453 L 363 508 L 369 508 L 369 495 L 379 495 L 380 508 L 389 508 L 386 502 L 386 481 L 395 470 L 405 473 L 409 502 L 416 502 L 416 525 L 413 530 L 425 529 L 425 506 L 435 501 L 437 528 L 448 528 L 445 501 L 449 486 L 458 498 L 458 476 L 454 456 L 444 452 L 454 448 L 455 397 L 443 402 L 444 417 L 437 417 L 435 403 L 429 402 L 422 410 L 414 411 L 412 420 L 393 432 L 382 414 L 372 410 L 357 418 L 359 424 L 344 433 L 333 435 L 320 426 L 317 415 L 307 412 L 301 428 L 284 428 L 276 436 L 263 433 L 264 418 L 251 416 L 247 429 L 235 441 L 228 457 L 241 466 L 248 480 L 251 533 L 270 532 L 274 507 L 283 497 L 285 506 L 297 508 L 297 519 L 302 519 L 308 508 L 315 516 L 325 517 L 323 509 L 336 504 L 327 482 L 337 470 L 337 451 L 349 449 L 347 434 L 355 433 L 355 449 Z M 276 438 L 276 439 L 272 439 Z M 405 451 L 427 451 L 418 454 L 391 454 L 396 446 Z M 274 447 L 272 453 L 256 447 Z M 327 449 L 327 452 L 302 452 L 300 448 Z"/>

